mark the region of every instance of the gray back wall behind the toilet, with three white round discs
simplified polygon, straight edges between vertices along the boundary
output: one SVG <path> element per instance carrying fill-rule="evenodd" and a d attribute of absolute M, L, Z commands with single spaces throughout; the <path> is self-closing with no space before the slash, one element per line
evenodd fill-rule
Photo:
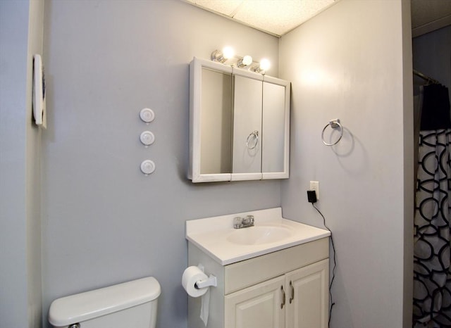
<path fill-rule="evenodd" d="M 152 275 L 158 326 L 186 327 L 185 220 L 280 206 L 279 181 L 187 180 L 188 63 L 228 44 L 277 76 L 278 39 L 183 1 L 111 0 L 47 0 L 44 36 L 44 321 L 55 298 Z"/>

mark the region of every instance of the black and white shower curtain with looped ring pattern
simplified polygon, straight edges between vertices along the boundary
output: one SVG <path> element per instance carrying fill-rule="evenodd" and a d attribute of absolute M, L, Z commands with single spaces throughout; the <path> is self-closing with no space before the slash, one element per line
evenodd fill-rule
<path fill-rule="evenodd" d="M 426 105 L 426 87 L 424 91 Z M 437 113 L 436 106 L 423 106 L 421 113 L 414 216 L 415 328 L 451 327 L 451 123 L 447 97 L 446 89 L 445 106 L 439 106 L 446 112 L 444 116 Z M 436 122 L 427 115 L 433 115 Z"/>

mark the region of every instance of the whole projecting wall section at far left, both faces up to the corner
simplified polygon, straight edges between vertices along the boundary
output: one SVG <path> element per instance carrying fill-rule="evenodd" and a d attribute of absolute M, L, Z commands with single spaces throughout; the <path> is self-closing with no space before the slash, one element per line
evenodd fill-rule
<path fill-rule="evenodd" d="M 44 1 L 0 1 L 0 327 L 40 327 L 41 134 L 32 123 L 32 55 Z"/>

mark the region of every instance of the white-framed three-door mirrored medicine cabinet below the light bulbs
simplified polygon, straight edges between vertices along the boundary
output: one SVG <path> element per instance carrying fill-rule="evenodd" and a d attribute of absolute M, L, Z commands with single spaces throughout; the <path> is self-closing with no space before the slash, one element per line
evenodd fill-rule
<path fill-rule="evenodd" d="M 290 82 L 193 59 L 192 182 L 288 178 L 289 139 Z"/>

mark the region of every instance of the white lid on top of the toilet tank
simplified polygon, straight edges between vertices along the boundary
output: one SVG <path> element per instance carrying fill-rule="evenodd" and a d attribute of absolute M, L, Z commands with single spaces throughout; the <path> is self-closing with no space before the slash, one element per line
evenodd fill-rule
<path fill-rule="evenodd" d="M 153 301 L 160 294 L 159 282 L 154 277 L 146 277 L 58 298 L 50 305 L 49 322 L 56 327 L 83 322 Z"/>

